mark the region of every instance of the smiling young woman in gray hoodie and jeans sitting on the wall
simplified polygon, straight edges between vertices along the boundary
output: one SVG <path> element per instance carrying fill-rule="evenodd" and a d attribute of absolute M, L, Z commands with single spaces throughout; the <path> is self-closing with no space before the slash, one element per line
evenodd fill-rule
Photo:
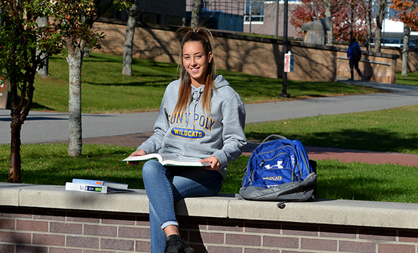
<path fill-rule="evenodd" d="M 154 134 L 131 156 L 176 153 L 210 166 L 170 167 L 150 160 L 142 167 L 152 253 L 194 252 L 180 237 L 174 202 L 218 194 L 228 163 L 238 158 L 246 144 L 243 100 L 223 76 L 214 75 L 211 33 L 205 28 L 183 28 L 182 34 L 180 79 L 166 88 Z"/>

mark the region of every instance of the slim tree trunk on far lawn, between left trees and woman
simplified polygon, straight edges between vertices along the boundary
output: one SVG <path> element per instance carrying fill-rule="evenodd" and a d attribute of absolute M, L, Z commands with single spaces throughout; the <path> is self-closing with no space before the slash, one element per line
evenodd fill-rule
<path fill-rule="evenodd" d="M 124 35 L 122 75 L 132 76 L 132 48 L 134 47 L 135 25 L 137 24 L 137 5 L 129 9 L 127 30 Z"/>

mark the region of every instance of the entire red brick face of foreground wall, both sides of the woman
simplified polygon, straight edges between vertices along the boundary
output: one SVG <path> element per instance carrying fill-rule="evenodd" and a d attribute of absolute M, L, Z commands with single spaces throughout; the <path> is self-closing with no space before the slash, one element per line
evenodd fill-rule
<path fill-rule="evenodd" d="M 0 207 L 1 253 L 150 252 L 148 216 Z M 417 230 L 180 217 L 199 252 L 417 253 Z"/>

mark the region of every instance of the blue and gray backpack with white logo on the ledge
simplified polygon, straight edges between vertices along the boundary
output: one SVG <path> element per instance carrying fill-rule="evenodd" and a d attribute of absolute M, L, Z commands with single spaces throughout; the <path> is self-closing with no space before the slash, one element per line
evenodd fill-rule
<path fill-rule="evenodd" d="M 273 137 L 279 139 L 269 141 Z M 273 134 L 251 153 L 240 195 L 249 200 L 307 201 L 315 199 L 315 189 L 316 163 L 308 159 L 301 141 Z"/>

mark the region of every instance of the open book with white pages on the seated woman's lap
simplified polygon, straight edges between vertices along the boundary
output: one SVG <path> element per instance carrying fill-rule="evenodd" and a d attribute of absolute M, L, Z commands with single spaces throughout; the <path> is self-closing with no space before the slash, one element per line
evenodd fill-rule
<path fill-rule="evenodd" d="M 122 160 L 124 162 L 137 161 L 137 160 L 158 160 L 162 165 L 175 165 L 175 166 L 210 166 L 211 163 L 201 163 L 199 158 L 190 158 L 187 156 L 178 155 L 175 153 L 151 153 L 141 156 L 129 156 Z"/>

